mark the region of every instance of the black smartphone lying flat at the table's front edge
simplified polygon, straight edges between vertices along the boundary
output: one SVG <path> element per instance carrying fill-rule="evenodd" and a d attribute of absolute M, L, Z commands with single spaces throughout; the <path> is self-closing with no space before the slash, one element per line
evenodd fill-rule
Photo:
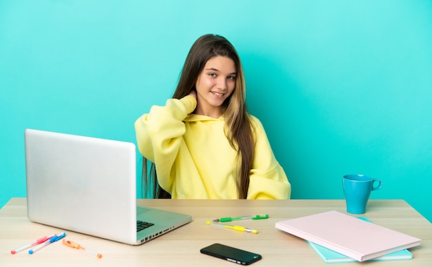
<path fill-rule="evenodd" d="M 217 243 L 202 248 L 199 252 L 242 265 L 253 264 L 255 261 L 262 259 L 259 254 Z"/>

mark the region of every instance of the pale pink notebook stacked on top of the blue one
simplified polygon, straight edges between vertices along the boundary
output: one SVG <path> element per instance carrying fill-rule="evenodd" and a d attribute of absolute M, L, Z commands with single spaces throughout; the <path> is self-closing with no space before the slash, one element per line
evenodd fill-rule
<path fill-rule="evenodd" d="M 335 210 L 276 223 L 276 228 L 366 261 L 420 245 L 420 239 Z"/>

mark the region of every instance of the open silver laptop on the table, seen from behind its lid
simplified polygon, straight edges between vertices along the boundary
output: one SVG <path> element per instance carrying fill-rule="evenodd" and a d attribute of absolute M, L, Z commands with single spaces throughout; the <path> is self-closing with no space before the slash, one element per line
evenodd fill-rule
<path fill-rule="evenodd" d="M 137 207 L 132 143 L 26 129 L 25 144 L 30 221 L 131 245 L 191 221 Z"/>

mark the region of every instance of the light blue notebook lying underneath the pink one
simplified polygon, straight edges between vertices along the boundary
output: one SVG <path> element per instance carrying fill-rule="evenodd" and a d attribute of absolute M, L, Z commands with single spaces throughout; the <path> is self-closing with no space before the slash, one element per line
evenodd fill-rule
<path fill-rule="evenodd" d="M 366 217 L 357 217 L 358 219 L 362 219 L 364 221 L 369 221 Z M 307 240 L 306 240 L 307 241 Z M 337 253 L 334 250 L 325 248 L 324 246 L 320 246 L 313 242 L 307 241 L 308 244 L 315 250 L 315 252 L 320 255 L 321 259 L 327 264 L 336 263 L 336 262 L 359 262 L 355 259 L 351 259 L 343 254 Z M 400 250 L 395 253 L 389 253 L 387 255 L 377 257 L 375 259 L 370 259 L 369 261 L 394 261 L 399 259 L 413 259 L 413 253 L 409 252 L 409 250 Z"/>

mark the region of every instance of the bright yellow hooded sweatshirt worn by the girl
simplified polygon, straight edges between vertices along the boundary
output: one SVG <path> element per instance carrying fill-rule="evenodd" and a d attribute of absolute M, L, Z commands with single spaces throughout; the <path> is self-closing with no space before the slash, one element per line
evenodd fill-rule
<path fill-rule="evenodd" d="M 192 96 L 168 99 L 135 122 L 139 152 L 155 162 L 161 188 L 178 199 L 237 199 L 237 151 L 224 134 L 224 116 L 191 114 Z M 289 199 L 291 185 L 273 155 L 262 123 L 255 126 L 255 153 L 247 199 Z"/>

